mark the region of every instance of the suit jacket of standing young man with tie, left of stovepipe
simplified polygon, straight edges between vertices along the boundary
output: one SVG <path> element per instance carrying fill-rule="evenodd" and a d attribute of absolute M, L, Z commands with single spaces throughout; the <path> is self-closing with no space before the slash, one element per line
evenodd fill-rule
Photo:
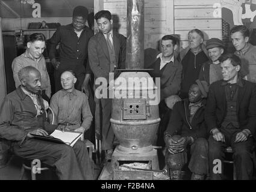
<path fill-rule="evenodd" d="M 126 38 L 113 30 L 113 44 L 116 52 L 117 68 L 125 68 Z M 101 32 L 90 38 L 88 45 L 89 64 L 97 77 L 105 77 L 108 80 L 110 73 L 110 56 L 107 41 Z M 114 72 L 117 74 L 117 71 Z M 115 75 L 116 76 L 116 75 Z"/>

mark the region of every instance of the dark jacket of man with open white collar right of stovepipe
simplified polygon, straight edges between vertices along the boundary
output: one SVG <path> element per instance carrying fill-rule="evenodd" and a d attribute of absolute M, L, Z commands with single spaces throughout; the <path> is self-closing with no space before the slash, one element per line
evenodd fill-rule
<path fill-rule="evenodd" d="M 174 63 L 168 63 L 160 70 L 160 58 L 158 58 L 151 66 L 154 70 L 149 71 L 152 77 L 160 77 L 160 100 L 163 100 L 170 95 L 176 95 L 181 88 L 181 76 L 183 66 L 174 59 Z"/>

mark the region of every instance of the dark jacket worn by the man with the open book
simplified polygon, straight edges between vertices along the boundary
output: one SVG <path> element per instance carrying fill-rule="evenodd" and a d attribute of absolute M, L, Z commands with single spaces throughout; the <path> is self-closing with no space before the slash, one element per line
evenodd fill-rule
<path fill-rule="evenodd" d="M 40 105 L 43 100 L 40 97 Z M 46 121 L 45 113 L 36 116 L 37 111 L 32 99 L 26 95 L 20 86 L 2 101 L 0 108 L 0 138 L 22 142 L 28 131 L 37 128 L 45 129 L 49 134 L 58 125 L 50 125 Z"/>

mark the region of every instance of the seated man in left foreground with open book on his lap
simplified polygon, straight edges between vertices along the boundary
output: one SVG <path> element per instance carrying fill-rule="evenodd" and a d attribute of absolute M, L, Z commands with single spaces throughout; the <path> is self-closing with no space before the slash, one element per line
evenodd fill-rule
<path fill-rule="evenodd" d="M 70 146 L 35 139 L 47 137 L 58 125 L 46 121 L 40 92 L 40 73 L 24 67 L 19 73 L 21 85 L 8 94 L 0 108 L 0 139 L 9 140 L 14 154 L 55 167 L 59 179 L 93 179 L 86 145 L 78 140 Z"/>

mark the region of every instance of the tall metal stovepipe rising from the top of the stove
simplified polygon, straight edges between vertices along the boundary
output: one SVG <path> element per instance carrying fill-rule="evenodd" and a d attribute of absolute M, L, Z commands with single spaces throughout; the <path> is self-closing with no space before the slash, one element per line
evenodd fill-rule
<path fill-rule="evenodd" d="M 125 68 L 144 68 L 144 0 L 127 0 Z"/>

